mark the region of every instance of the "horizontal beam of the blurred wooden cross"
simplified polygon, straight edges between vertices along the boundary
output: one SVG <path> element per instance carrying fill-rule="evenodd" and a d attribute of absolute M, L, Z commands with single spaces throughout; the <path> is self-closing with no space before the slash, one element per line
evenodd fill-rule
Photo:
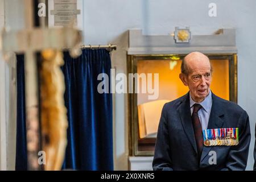
<path fill-rule="evenodd" d="M 2 31 L 2 52 L 40 52 L 43 49 L 79 48 L 81 32 L 69 27 Z M 0 46 L 1 48 L 1 46 Z"/>

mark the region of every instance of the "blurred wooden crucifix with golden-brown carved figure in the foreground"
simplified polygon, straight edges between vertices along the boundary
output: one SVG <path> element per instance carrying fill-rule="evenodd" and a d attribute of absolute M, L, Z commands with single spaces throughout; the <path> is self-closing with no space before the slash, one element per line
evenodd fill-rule
<path fill-rule="evenodd" d="M 70 49 L 71 56 L 79 56 L 81 31 L 70 27 L 36 27 L 38 1 L 24 3 L 26 30 L 3 31 L 0 50 L 3 55 L 24 53 L 28 170 L 59 170 L 68 125 L 61 50 Z M 46 163 L 40 163 L 39 154 L 46 155 Z"/>

